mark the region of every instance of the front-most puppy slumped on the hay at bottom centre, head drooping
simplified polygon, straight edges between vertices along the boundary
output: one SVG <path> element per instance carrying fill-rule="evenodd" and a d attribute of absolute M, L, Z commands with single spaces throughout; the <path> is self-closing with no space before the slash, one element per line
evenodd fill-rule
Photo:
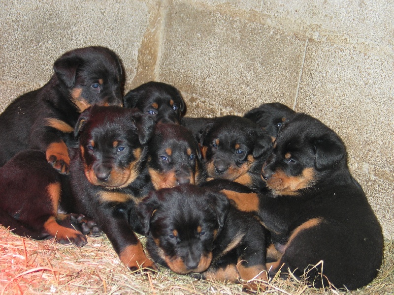
<path fill-rule="evenodd" d="M 165 188 L 144 198 L 137 213 L 158 264 L 204 279 L 241 281 L 252 291 L 258 281 L 267 282 L 264 228 L 225 195 L 190 184 Z"/>

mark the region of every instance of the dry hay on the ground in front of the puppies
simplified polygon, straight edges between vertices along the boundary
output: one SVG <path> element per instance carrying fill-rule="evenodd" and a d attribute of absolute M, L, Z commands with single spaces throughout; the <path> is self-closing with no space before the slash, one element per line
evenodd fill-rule
<path fill-rule="evenodd" d="M 315 290 L 291 276 L 274 278 L 264 294 L 393 294 L 394 242 L 385 243 L 378 277 L 353 292 Z M 0 226 L 0 295 L 2 294 L 242 294 L 241 285 L 206 282 L 161 268 L 131 273 L 105 236 L 88 237 L 82 248 L 53 240 L 22 238 Z M 261 293 L 263 294 L 263 292 Z"/>

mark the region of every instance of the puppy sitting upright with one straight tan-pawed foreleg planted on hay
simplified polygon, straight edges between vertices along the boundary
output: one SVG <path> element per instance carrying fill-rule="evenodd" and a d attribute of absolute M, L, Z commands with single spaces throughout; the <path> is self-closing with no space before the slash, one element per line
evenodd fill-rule
<path fill-rule="evenodd" d="M 136 109 L 92 106 L 78 119 L 79 146 L 70 150 L 72 194 L 65 203 L 72 206 L 64 209 L 95 220 L 131 269 L 154 267 L 129 224 L 138 197 L 149 190 L 144 167 L 153 127 Z"/>

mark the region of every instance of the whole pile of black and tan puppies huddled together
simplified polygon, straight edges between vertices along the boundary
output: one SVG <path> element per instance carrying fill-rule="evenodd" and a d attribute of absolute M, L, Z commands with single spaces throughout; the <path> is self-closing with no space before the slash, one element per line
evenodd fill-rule
<path fill-rule="evenodd" d="M 103 231 L 130 269 L 247 291 L 278 272 L 347 289 L 375 277 L 381 227 L 318 119 L 280 103 L 186 118 L 159 82 L 122 97 L 120 59 L 103 47 L 67 52 L 54 71 L 0 115 L 0 224 L 15 234 L 83 246 Z"/>

